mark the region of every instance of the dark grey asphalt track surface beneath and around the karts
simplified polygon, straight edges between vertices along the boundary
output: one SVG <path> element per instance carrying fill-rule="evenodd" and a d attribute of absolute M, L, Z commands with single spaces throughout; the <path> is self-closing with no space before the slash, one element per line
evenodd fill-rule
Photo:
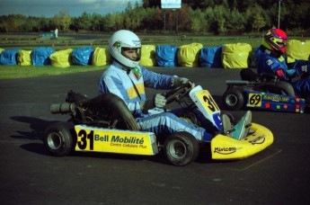
<path fill-rule="evenodd" d="M 190 78 L 220 107 L 225 81 L 239 79 L 237 69 L 151 69 Z M 43 130 L 67 119 L 50 114 L 50 103 L 63 103 L 69 90 L 95 96 L 101 73 L 0 80 L 2 204 L 309 204 L 307 113 L 252 111 L 252 121 L 269 128 L 275 141 L 243 160 L 213 161 L 206 154 L 177 167 L 161 155 L 49 156 Z M 239 118 L 244 111 L 231 113 Z"/>

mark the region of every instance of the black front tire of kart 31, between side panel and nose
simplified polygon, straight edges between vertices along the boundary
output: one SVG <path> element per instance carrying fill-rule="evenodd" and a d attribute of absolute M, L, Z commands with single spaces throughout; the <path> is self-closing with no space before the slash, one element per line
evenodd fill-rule
<path fill-rule="evenodd" d="M 189 165 L 199 156 L 199 142 L 188 132 L 174 132 L 164 142 L 164 155 L 172 165 Z"/>

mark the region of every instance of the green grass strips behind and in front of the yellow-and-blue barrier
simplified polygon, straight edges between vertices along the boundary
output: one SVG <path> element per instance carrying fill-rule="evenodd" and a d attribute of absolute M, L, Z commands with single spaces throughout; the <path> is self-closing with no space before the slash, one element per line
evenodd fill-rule
<path fill-rule="evenodd" d="M 190 43 L 201 43 L 203 46 L 215 47 L 227 43 L 247 43 L 256 48 L 261 44 L 261 36 L 196 36 L 196 35 L 153 35 L 139 34 L 139 37 L 144 45 L 175 45 L 182 46 Z M 75 38 L 76 37 L 76 38 Z M 56 50 L 62 49 L 77 49 L 85 46 L 107 47 L 110 34 L 90 34 L 92 38 L 77 38 L 78 34 L 72 36 L 59 36 L 57 40 L 41 39 L 35 34 L 26 35 L 9 35 L 0 33 L 0 49 L 24 49 L 32 50 L 40 47 L 54 47 Z M 309 40 L 301 36 L 289 37 L 289 40 Z M 1 66 L 0 79 L 24 78 L 35 76 L 58 76 L 75 72 L 87 72 L 105 67 L 94 66 L 71 66 L 66 68 L 60 67 L 22 67 L 22 66 Z"/>

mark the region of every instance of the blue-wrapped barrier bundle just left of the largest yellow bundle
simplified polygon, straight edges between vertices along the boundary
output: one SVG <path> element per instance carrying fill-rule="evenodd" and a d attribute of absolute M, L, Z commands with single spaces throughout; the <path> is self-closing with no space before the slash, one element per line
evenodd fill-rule
<path fill-rule="evenodd" d="M 199 66 L 200 67 L 223 67 L 222 66 L 222 48 L 217 47 L 203 47 L 200 49 Z"/>

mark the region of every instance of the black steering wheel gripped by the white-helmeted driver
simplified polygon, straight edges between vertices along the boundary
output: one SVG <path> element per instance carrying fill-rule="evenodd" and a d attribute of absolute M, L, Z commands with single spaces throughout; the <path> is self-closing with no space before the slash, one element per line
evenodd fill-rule
<path fill-rule="evenodd" d="M 189 94 L 190 90 L 191 85 L 189 83 L 173 87 L 172 90 L 163 94 L 167 101 L 166 104 L 173 103 L 174 101 L 178 102 L 183 96 Z"/>

